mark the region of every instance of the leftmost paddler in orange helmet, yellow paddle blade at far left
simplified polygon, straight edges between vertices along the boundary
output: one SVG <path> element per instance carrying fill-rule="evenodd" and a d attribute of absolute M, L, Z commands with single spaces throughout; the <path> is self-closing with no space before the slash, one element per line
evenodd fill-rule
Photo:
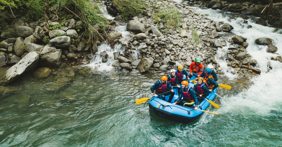
<path fill-rule="evenodd" d="M 161 80 L 157 80 L 157 82 L 151 87 L 151 91 L 155 97 L 161 98 L 164 101 L 166 101 L 165 96 L 168 96 L 170 94 L 169 99 L 168 99 L 169 103 L 174 96 L 173 88 L 171 87 L 170 83 L 168 82 L 167 76 L 162 76 Z M 164 92 L 167 92 L 167 93 L 162 94 Z"/>

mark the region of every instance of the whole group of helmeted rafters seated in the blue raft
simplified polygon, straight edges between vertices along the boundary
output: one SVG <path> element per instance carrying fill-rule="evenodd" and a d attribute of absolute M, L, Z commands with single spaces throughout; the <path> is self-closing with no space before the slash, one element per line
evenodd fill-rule
<path fill-rule="evenodd" d="M 170 102 L 175 94 L 172 86 L 177 86 L 178 99 L 173 103 L 184 107 L 193 107 L 195 103 L 195 110 L 198 110 L 198 99 L 206 98 L 211 91 L 218 87 L 217 76 L 213 71 L 213 65 L 209 64 L 203 72 L 203 64 L 200 58 L 196 58 L 190 64 L 190 73 L 183 70 L 183 66 L 179 65 L 178 69 L 171 69 L 170 73 L 162 76 L 152 87 L 151 91 L 155 97 L 161 98 L 166 101 L 165 96 L 169 96 Z M 197 84 L 194 87 L 188 87 L 189 79 L 195 74 Z M 186 79 L 183 76 L 186 75 Z M 178 84 L 182 84 L 182 88 Z M 183 97 L 183 99 L 181 99 Z"/>

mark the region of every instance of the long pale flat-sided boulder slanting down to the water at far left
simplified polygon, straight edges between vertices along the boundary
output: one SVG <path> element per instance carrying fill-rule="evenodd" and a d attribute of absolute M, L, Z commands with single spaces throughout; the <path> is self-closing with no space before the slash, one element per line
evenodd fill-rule
<path fill-rule="evenodd" d="M 23 57 L 17 64 L 10 67 L 4 77 L 3 83 L 10 83 L 16 80 L 21 74 L 34 69 L 39 60 L 38 52 L 30 52 L 25 57 Z"/>

